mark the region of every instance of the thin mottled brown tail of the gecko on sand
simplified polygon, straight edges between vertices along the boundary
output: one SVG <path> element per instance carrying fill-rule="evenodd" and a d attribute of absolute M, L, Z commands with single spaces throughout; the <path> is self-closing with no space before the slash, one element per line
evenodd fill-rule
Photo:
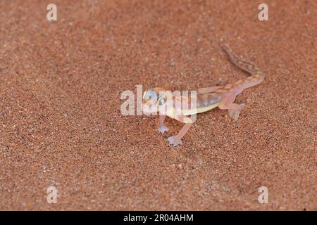
<path fill-rule="evenodd" d="M 250 75 L 257 75 L 261 78 L 266 77 L 265 73 L 260 70 L 260 68 L 256 67 L 256 65 L 253 65 L 245 60 L 242 60 L 237 54 L 235 54 L 227 44 L 220 44 L 220 46 L 223 48 L 223 50 L 228 54 L 231 62 L 235 64 L 238 68 L 241 70 L 244 70 L 248 72 Z"/>

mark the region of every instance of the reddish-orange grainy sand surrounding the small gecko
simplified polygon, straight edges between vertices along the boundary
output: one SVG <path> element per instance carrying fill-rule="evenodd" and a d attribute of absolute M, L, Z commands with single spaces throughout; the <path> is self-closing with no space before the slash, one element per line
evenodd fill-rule
<path fill-rule="evenodd" d="M 317 210 L 316 1 L 0 1 L 0 210 Z M 267 73 L 228 111 L 123 116 L 120 93 Z M 57 204 L 46 188 L 58 190 Z M 268 204 L 258 202 L 268 187 Z"/>

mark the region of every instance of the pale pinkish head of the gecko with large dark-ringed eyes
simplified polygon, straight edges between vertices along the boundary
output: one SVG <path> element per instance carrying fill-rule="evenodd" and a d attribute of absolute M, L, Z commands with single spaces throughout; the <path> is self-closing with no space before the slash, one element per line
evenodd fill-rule
<path fill-rule="evenodd" d="M 166 91 L 160 87 L 154 89 L 147 89 L 143 93 L 143 106 L 144 113 L 161 113 L 161 106 L 166 105 L 167 95 L 170 91 Z"/>

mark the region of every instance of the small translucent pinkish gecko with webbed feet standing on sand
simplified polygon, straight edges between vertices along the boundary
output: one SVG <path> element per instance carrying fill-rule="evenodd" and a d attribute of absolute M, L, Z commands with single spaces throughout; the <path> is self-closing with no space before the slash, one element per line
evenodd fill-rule
<path fill-rule="evenodd" d="M 159 133 L 164 134 L 168 132 L 168 127 L 165 125 L 166 116 L 185 123 L 182 129 L 175 136 L 170 136 L 167 141 L 175 146 L 182 145 L 182 137 L 185 136 L 189 128 L 192 126 L 194 120 L 189 115 L 196 115 L 197 113 L 204 113 L 213 108 L 220 108 L 221 110 L 228 110 L 229 116 L 233 120 L 237 120 L 240 111 L 244 108 L 244 103 L 234 103 L 235 98 L 244 89 L 255 86 L 263 82 L 266 74 L 260 70 L 256 65 L 253 65 L 237 56 L 227 44 L 221 44 L 223 50 L 228 54 L 230 61 L 241 70 L 248 72 L 250 75 L 243 79 L 239 79 L 232 84 L 225 84 L 223 86 L 211 86 L 197 89 L 196 108 L 190 110 L 182 109 L 182 105 L 173 103 L 167 105 L 168 96 L 173 96 L 172 91 L 168 91 L 161 87 L 154 89 L 147 89 L 144 91 L 142 98 L 142 110 L 144 113 L 159 112 Z M 178 101 L 189 101 L 188 97 L 173 96 Z M 160 110 L 165 106 L 164 110 Z M 176 111 L 180 113 L 175 113 Z"/>

